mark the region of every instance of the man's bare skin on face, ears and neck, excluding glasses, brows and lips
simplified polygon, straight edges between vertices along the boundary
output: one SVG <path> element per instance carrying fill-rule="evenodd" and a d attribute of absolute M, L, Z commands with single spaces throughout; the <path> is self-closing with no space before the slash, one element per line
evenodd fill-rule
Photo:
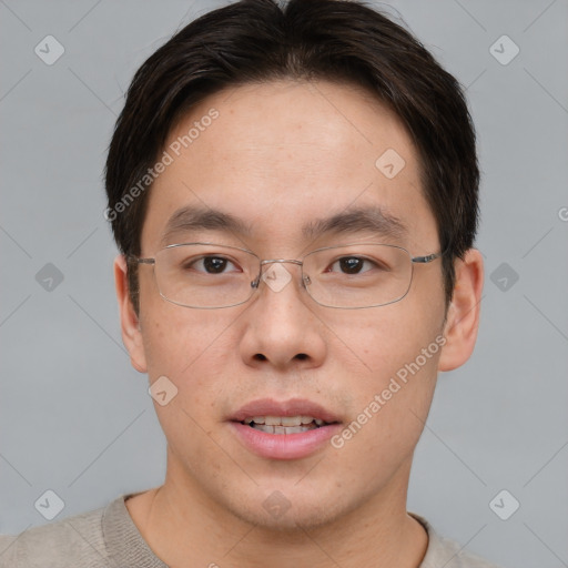
<path fill-rule="evenodd" d="M 323 81 L 239 87 L 193 109 L 170 141 L 211 108 L 220 116 L 151 190 L 142 256 L 158 252 L 170 215 L 191 204 L 253 222 L 242 240 L 211 231 L 199 236 L 246 246 L 261 258 L 300 258 L 328 244 L 306 241 L 300 227 L 352 204 L 379 205 L 402 220 L 413 256 L 439 251 L 416 149 L 368 93 Z M 375 168 L 387 149 L 406 162 L 392 180 Z M 132 365 L 151 383 L 165 375 L 179 389 L 168 405 L 154 403 L 168 439 L 165 481 L 129 499 L 129 513 L 156 556 L 175 567 L 260 567 L 267 558 L 274 567 L 417 567 L 427 534 L 406 511 L 413 453 L 438 371 L 458 367 L 474 349 L 480 254 L 470 250 L 456 261 L 447 312 L 439 260 L 415 266 L 403 301 L 355 311 L 317 305 L 301 286 L 298 266 L 283 266 L 293 280 L 282 291 L 261 284 L 248 303 L 223 310 L 165 302 L 152 267 L 141 266 L 136 316 L 124 260 L 116 258 Z M 303 459 L 266 459 L 225 422 L 250 400 L 301 397 L 347 425 L 440 334 L 443 349 L 339 449 L 326 444 Z M 291 504 L 280 518 L 263 507 L 275 490 Z"/>

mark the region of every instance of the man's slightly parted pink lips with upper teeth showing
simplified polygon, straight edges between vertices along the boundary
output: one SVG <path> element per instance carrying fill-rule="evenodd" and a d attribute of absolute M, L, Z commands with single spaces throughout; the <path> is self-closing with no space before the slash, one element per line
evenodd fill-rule
<path fill-rule="evenodd" d="M 271 459 L 310 456 L 342 427 L 332 412 L 300 398 L 254 400 L 241 407 L 230 425 L 248 450 Z"/>

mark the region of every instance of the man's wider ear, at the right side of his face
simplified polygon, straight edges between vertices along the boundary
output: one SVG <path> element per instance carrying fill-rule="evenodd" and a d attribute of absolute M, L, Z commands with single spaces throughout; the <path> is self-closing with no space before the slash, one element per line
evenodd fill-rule
<path fill-rule="evenodd" d="M 484 287 L 481 253 L 469 248 L 464 260 L 455 261 L 456 284 L 448 306 L 444 336 L 446 344 L 438 362 L 439 371 L 452 371 L 471 355 L 479 327 L 479 308 Z"/>

